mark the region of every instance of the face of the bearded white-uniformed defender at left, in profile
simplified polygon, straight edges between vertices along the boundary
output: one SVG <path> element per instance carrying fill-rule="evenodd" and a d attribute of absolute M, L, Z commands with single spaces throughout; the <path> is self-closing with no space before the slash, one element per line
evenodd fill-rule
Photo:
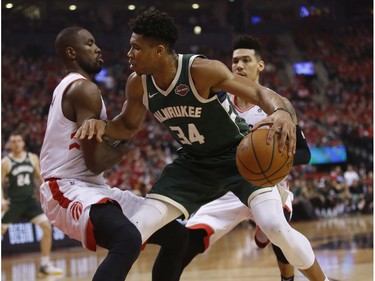
<path fill-rule="evenodd" d="M 102 51 L 95 43 L 92 34 L 82 29 L 78 32 L 76 46 L 76 59 L 79 66 L 89 74 L 97 74 L 102 69 Z"/>

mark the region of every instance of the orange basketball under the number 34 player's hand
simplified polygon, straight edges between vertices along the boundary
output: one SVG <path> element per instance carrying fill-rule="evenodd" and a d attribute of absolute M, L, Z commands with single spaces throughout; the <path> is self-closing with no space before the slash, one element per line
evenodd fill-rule
<path fill-rule="evenodd" d="M 293 166 L 293 157 L 288 156 L 287 147 L 279 151 L 278 134 L 271 144 L 266 139 L 269 129 L 260 128 L 246 135 L 240 142 L 237 153 L 237 168 L 242 177 L 257 186 L 274 186 L 282 181 Z"/>

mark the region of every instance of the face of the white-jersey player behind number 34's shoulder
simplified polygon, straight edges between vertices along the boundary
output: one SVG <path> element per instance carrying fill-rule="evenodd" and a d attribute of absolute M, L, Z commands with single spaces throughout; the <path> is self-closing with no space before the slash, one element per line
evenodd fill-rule
<path fill-rule="evenodd" d="M 259 80 L 259 73 L 264 69 L 264 61 L 258 61 L 252 49 L 237 49 L 233 51 L 232 72 L 249 78 L 251 81 Z"/>

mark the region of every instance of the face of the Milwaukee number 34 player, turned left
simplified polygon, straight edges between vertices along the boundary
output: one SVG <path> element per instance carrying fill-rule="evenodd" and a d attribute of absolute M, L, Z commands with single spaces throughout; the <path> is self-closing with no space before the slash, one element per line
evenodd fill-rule
<path fill-rule="evenodd" d="M 154 74 L 159 69 L 157 62 L 165 53 L 166 49 L 163 45 L 157 44 L 143 35 L 133 33 L 128 52 L 129 67 L 138 75 Z"/>

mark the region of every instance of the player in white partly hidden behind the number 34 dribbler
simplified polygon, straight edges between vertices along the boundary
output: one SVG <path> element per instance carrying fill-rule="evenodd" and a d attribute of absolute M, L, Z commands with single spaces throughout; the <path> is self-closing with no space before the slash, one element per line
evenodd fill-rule
<path fill-rule="evenodd" d="M 252 37 L 239 37 L 233 46 L 232 71 L 238 75 L 247 77 L 259 83 L 259 74 L 264 70 L 265 63 L 261 58 L 261 46 Z M 267 117 L 267 114 L 257 105 L 250 104 L 234 95 L 231 100 L 239 115 L 246 120 L 250 127 Z M 284 99 L 285 106 L 292 112 L 296 123 L 297 145 L 294 155 L 294 165 L 307 164 L 310 160 L 310 150 L 306 140 L 297 124 L 297 117 L 293 106 Z M 278 188 L 286 200 L 284 213 L 288 220 L 292 214 L 293 193 L 289 191 L 286 180 L 278 184 Z M 246 208 L 233 193 L 227 193 L 223 197 L 201 207 L 187 222 L 186 227 L 191 229 L 191 242 L 185 256 L 186 266 L 199 252 L 205 251 L 209 246 L 231 231 L 241 221 L 254 220 L 251 210 Z M 270 242 L 265 234 L 256 228 L 255 242 L 260 248 L 264 248 Z M 294 267 L 289 264 L 280 248 L 272 245 L 277 257 L 282 281 L 294 280 Z"/>

